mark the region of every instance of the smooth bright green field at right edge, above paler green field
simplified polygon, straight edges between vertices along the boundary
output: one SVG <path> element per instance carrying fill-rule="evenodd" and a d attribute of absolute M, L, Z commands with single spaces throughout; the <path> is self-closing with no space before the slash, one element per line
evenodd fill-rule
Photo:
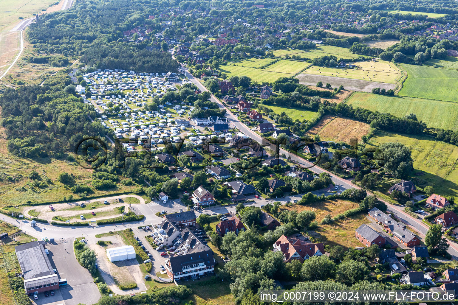
<path fill-rule="evenodd" d="M 399 95 L 456 102 L 458 71 L 413 64 L 402 67 L 407 71 L 407 80 Z"/>

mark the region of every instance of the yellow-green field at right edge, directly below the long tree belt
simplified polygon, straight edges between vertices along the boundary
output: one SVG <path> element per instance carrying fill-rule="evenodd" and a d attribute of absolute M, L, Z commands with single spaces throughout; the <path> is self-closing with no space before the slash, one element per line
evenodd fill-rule
<path fill-rule="evenodd" d="M 420 107 L 421 108 L 421 107 Z M 432 185 L 442 196 L 458 195 L 458 147 L 428 136 L 394 134 L 378 131 L 366 148 L 386 142 L 402 143 L 412 151 L 415 184 Z"/>

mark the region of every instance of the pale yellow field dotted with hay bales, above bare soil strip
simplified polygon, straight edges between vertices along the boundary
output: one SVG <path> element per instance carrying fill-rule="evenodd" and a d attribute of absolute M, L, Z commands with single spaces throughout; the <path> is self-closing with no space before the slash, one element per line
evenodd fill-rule
<path fill-rule="evenodd" d="M 353 64 L 356 65 L 355 68 L 311 66 L 305 70 L 305 73 L 356 80 L 369 80 L 389 84 L 395 84 L 396 81 L 401 78 L 401 71 L 398 67 L 388 61 L 361 61 Z"/>

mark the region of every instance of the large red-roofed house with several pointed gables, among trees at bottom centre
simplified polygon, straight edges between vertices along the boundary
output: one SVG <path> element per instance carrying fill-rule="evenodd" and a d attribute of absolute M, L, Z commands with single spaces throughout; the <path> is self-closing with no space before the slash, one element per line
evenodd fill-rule
<path fill-rule="evenodd" d="M 300 239 L 280 236 L 273 244 L 273 251 L 283 253 L 284 262 L 291 262 L 294 259 L 304 262 L 312 256 L 322 256 L 325 254 L 323 243 L 308 244 Z"/>

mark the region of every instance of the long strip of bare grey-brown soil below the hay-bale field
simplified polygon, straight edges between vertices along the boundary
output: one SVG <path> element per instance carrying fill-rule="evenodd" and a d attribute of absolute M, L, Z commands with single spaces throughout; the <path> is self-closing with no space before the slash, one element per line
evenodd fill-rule
<path fill-rule="evenodd" d="M 352 90 L 352 91 L 364 91 L 364 92 L 371 92 L 372 89 L 380 87 L 388 89 L 396 88 L 395 84 L 385 84 L 379 83 L 376 81 L 368 81 L 368 80 L 354 80 L 349 78 L 342 78 L 336 76 L 324 76 L 324 75 L 313 75 L 308 73 L 301 73 L 300 75 L 296 76 L 299 79 L 299 83 L 302 85 L 311 85 L 315 86 L 317 82 L 322 81 L 323 84 L 329 83 L 333 87 L 338 87 L 343 85 L 345 89 Z"/>

